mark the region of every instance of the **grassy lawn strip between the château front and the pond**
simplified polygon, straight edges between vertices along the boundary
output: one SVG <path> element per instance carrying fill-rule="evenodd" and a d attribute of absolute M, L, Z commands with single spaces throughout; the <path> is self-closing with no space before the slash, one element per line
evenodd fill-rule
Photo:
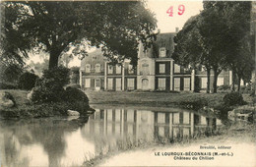
<path fill-rule="evenodd" d="M 85 91 L 91 104 L 135 104 L 144 106 L 180 106 L 188 101 L 205 101 L 209 107 L 222 103 L 225 93 L 169 93 L 138 91 Z M 253 97 L 243 94 L 244 100 L 252 104 Z"/>

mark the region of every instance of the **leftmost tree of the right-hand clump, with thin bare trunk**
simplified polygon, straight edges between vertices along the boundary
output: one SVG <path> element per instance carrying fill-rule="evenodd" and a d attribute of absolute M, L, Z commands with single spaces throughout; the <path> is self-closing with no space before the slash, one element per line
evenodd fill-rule
<path fill-rule="evenodd" d="M 200 17 L 201 15 L 191 17 L 174 37 L 176 45 L 172 58 L 179 64 L 191 65 L 194 69 L 198 68 L 198 65 L 204 65 L 207 70 L 207 93 L 209 93 L 211 65 L 209 51 L 197 28 Z"/>

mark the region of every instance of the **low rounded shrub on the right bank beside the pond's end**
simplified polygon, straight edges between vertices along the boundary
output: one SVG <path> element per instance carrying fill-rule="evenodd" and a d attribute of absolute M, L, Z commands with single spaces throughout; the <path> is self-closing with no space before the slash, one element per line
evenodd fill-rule
<path fill-rule="evenodd" d="M 242 94 L 237 91 L 232 91 L 224 95 L 224 105 L 243 105 L 245 101 L 243 100 Z"/>

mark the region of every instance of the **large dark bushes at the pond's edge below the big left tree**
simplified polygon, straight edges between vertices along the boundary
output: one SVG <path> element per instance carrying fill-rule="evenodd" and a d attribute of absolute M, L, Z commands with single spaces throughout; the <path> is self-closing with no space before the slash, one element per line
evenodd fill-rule
<path fill-rule="evenodd" d="M 68 109 L 86 113 L 90 108 L 87 95 L 71 86 L 65 90 L 63 86 L 67 83 L 69 83 L 69 69 L 58 67 L 43 71 L 42 78 L 37 80 L 32 89 L 32 102 L 36 105 L 49 103 L 47 105 L 52 107 L 51 110 L 61 113 L 66 113 Z"/>

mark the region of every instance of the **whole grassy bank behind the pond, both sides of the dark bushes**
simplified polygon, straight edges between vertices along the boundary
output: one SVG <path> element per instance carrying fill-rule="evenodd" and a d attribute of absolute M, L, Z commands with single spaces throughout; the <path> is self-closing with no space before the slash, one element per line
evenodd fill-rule
<path fill-rule="evenodd" d="M 10 92 L 16 101 L 16 106 L 0 111 L 2 117 L 47 117 L 67 115 L 67 109 L 83 109 L 79 102 L 55 102 L 32 104 L 27 99 L 29 91 L 19 89 L 0 90 Z M 198 110 L 204 106 L 217 108 L 222 105 L 225 93 L 169 93 L 169 92 L 139 92 L 139 91 L 85 91 L 90 104 L 134 105 L 155 107 L 185 107 Z M 244 100 L 253 104 L 253 97 L 243 94 Z M 88 108 L 87 108 L 88 109 Z"/>

